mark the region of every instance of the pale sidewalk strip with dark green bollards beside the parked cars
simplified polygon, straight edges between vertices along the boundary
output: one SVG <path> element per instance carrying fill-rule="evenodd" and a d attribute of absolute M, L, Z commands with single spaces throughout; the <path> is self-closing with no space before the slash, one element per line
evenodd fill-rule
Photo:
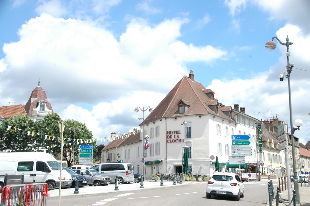
<path fill-rule="evenodd" d="M 78 190 L 78 194 L 74 194 L 75 189 L 74 188 L 68 188 L 68 189 L 61 189 L 61 198 L 72 198 L 72 197 L 85 197 L 85 196 L 98 196 L 101 194 L 120 194 L 124 192 L 135 192 L 135 191 L 141 191 L 141 190 L 155 190 L 155 189 L 162 189 L 162 188 L 169 188 L 169 187 L 183 187 L 187 186 L 188 183 L 186 181 L 183 181 L 182 184 L 176 183 L 176 185 L 173 185 L 173 181 L 163 181 L 163 186 L 160 186 L 160 180 L 154 181 L 154 180 L 145 180 L 143 181 L 143 188 L 140 188 L 140 182 L 139 183 L 129 183 L 129 184 L 122 184 L 117 185 L 118 190 L 115 189 L 115 184 L 109 184 L 108 186 L 85 186 L 80 187 Z M 49 199 L 58 199 L 59 197 L 59 190 L 49 190 L 48 191 Z"/>

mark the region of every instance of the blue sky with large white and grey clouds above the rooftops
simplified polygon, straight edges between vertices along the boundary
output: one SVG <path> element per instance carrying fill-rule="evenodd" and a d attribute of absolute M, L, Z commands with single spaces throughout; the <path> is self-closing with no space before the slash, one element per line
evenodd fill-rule
<path fill-rule="evenodd" d="M 138 127 L 133 109 L 156 107 L 193 70 L 224 105 L 289 122 L 287 79 L 279 81 L 286 47 L 275 40 L 275 50 L 265 48 L 288 35 L 293 119 L 304 122 L 295 135 L 305 144 L 309 7 L 306 0 L 4 0 L 0 106 L 25 104 L 40 78 L 54 112 L 108 137 Z"/>

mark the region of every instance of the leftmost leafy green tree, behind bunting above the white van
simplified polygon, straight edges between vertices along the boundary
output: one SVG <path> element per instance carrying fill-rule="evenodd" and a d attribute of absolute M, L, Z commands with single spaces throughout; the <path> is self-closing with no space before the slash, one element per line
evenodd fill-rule
<path fill-rule="evenodd" d="M 7 130 L 8 126 L 6 125 L 11 128 Z M 29 148 L 34 147 L 39 141 L 38 135 L 32 133 L 35 131 L 35 123 L 27 114 L 4 119 L 0 128 L 0 150 L 29 152 Z"/>

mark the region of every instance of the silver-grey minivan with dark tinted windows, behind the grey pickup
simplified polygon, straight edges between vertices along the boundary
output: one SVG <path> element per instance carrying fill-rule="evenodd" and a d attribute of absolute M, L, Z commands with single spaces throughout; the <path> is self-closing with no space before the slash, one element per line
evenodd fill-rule
<path fill-rule="evenodd" d="M 118 176 L 117 183 L 134 181 L 134 169 L 131 163 L 98 163 L 90 169 L 97 170 L 100 175 L 111 177 L 111 181 L 115 183 L 115 176 Z"/>

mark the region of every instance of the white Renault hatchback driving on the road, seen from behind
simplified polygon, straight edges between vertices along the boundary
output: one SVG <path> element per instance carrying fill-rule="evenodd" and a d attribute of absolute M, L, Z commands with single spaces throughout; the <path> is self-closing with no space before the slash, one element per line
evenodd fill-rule
<path fill-rule="evenodd" d="M 239 201 L 244 197 L 244 180 L 235 173 L 229 172 L 215 172 L 208 181 L 206 188 L 206 196 L 208 199 L 212 195 L 234 197 Z"/>

